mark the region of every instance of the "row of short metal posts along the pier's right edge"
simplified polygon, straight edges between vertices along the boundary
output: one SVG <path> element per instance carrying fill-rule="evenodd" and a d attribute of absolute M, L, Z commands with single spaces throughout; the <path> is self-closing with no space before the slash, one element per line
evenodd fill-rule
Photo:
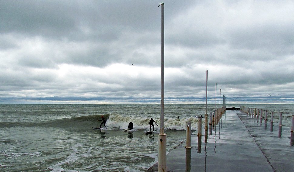
<path fill-rule="evenodd" d="M 262 115 L 263 115 L 263 110 L 259 108 L 250 108 L 246 106 L 240 106 L 240 110 L 242 110 L 244 113 L 254 116 L 257 118 L 260 118 L 262 120 Z M 260 112 L 260 114 L 259 114 Z M 265 110 L 265 117 L 264 120 L 267 121 L 267 111 Z M 294 145 L 294 115 L 292 115 L 292 125 L 291 125 L 291 145 Z M 271 131 L 272 131 L 272 126 L 274 122 L 274 112 L 271 112 Z M 279 137 L 281 137 L 282 134 L 282 113 L 279 113 Z"/>

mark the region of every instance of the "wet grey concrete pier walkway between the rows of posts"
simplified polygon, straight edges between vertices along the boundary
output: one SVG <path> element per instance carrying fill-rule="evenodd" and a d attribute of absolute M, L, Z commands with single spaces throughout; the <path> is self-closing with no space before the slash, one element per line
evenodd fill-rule
<path fill-rule="evenodd" d="M 207 137 L 204 126 L 203 136 L 192 133 L 191 149 L 183 143 L 167 155 L 167 171 L 292 171 L 291 128 L 271 124 L 240 110 L 226 111 L 217 125 L 209 127 Z M 147 171 L 158 171 L 158 164 Z"/>

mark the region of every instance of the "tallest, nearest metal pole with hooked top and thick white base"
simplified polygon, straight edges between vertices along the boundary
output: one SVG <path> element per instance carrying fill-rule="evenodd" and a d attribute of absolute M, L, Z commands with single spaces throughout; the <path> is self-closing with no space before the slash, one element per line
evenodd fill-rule
<path fill-rule="evenodd" d="M 161 6 L 161 101 L 160 134 L 158 134 L 158 171 L 166 171 L 166 134 L 164 133 L 164 4 Z"/>

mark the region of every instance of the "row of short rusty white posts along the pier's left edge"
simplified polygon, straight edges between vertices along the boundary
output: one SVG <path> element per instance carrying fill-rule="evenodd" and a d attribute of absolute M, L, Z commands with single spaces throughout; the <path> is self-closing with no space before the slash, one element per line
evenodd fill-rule
<path fill-rule="evenodd" d="M 222 114 L 226 111 L 226 106 L 218 108 L 213 112 L 209 112 L 209 125 L 219 122 Z M 208 114 L 205 114 L 204 123 L 205 133 L 208 131 Z M 207 134 L 205 134 L 206 136 Z M 202 136 L 202 117 L 198 118 L 198 137 Z M 199 140 L 199 139 L 198 139 Z M 207 140 L 207 139 L 205 139 Z M 201 139 L 200 139 L 201 142 Z M 191 122 L 186 122 L 186 146 L 185 148 L 191 148 Z"/>

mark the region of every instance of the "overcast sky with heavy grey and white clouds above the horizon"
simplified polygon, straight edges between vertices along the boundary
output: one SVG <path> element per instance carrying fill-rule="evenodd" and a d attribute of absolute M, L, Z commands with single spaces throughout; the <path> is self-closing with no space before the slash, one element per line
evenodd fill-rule
<path fill-rule="evenodd" d="M 0 0 L 0 103 L 294 103 L 294 1 Z M 133 64 L 133 65 L 132 65 Z M 215 83 L 217 88 L 215 88 Z"/>

